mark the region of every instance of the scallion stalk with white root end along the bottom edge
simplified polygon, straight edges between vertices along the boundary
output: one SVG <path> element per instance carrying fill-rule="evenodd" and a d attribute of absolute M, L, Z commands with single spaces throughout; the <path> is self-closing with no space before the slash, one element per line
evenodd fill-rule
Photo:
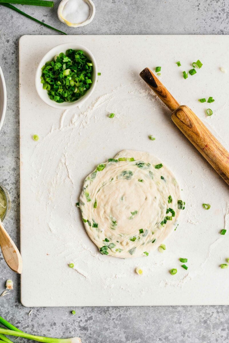
<path fill-rule="evenodd" d="M 65 339 L 48 338 L 48 337 L 34 336 L 25 332 L 13 331 L 13 330 L 8 330 L 8 329 L 3 329 L 3 328 L 0 328 L 0 333 L 5 334 L 5 335 L 23 337 L 29 340 L 33 340 L 37 342 L 44 342 L 44 343 L 81 343 L 81 339 L 78 337 L 65 338 Z"/>

